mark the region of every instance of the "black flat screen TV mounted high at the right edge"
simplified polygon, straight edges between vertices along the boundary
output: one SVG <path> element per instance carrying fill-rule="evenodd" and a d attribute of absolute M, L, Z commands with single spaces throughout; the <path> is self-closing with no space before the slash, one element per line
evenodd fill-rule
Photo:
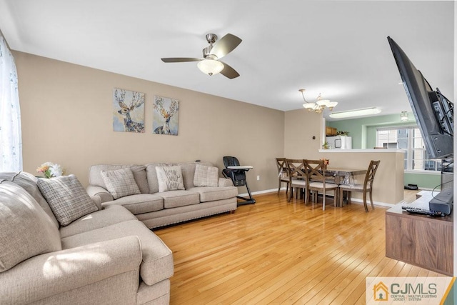
<path fill-rule="evenodd" d="M 453 158 L 453 103 L 431 85 L 391 37 L 387 37 L 411 109 L 431 159 Z"/>

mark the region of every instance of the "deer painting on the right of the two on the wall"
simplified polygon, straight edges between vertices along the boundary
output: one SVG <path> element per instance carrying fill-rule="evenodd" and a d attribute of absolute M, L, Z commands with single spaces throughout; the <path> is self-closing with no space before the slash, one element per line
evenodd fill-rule
<path fill-rule="evenodd" d="M 154 96 L 153 134 L 178 135 L 179 101 L 163 96 Z"/>

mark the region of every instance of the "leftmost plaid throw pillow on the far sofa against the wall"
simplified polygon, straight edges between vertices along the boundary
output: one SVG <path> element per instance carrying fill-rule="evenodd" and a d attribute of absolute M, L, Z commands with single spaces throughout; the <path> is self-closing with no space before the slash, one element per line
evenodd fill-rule
<path fill-rule="evenodd" d="M 112 171 L 101 171 L 101 177 L 105 182 L 106 189 L 113 195 L 114 199 L 141 194 L 136 184 L 134 173 L 129 167 L 125 169 L 114 169 Z"/>

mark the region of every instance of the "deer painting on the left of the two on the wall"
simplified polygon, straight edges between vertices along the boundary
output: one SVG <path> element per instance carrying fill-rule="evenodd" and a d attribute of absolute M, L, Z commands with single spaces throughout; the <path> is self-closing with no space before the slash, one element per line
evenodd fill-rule
<path fill-rule="evenodd" d="M 144 132 L 144 93 L 113 89 L 113 130 Z"/>

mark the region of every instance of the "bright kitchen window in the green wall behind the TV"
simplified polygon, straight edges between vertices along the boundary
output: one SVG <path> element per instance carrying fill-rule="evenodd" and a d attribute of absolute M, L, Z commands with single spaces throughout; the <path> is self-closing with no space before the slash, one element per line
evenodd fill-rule
<path fill-rule="evenodd" d="M 376 146 L 405 149 L 404 169 L 406 171 L 441 171 L 441 159 L 430 159 L 417 126 L 377 129 Z"/>

